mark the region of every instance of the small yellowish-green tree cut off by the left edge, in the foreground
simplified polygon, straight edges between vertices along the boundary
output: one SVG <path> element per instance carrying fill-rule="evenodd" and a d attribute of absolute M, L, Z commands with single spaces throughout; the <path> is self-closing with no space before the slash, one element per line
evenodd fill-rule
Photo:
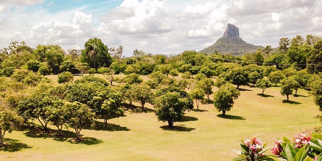
<path fill-rule="evenodd" d="M 4 146 L 3 137 L 5 132 L 11 133 L 14 128 L 22 123 L 22 118 L 17 114 L 8 109 L 7 107 L 0 107 L 0 146 Z"/>

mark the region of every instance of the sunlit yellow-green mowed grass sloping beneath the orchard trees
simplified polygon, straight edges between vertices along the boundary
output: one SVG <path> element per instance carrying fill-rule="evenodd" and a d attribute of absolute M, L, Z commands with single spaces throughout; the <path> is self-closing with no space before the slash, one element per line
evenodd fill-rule
<path fill-rule="evenodd" d="M 48 77 L 57 80 L 57 76 Z M 82 130 L 87 141 L 81 144 L 69 141 L 74 135 L 72 129 L 65 134 L 68 139 L 54 134 L 43 136 L 32 129 L 13 131 L 5 138 L 14 139 L 7 140 L 15 148 L 0 149 L 0 160 L 226 161 L 237 156 L 231 150 L 239 149 L 241 139 L 258 137 L 272 147 L 275 137 L 291 138 L 301 131 L 310 133 L 319 124 L 314 116 L 320 112 L 306 90 L 300 89 L 299 97 L 290 96 L 294 102 L 283 103 L 286 96 L 280 95 L 280 87 L 265 90 L 264 97 L 257 95 L 261 89 L 247 86 L 241 89 L 241 96 L 235 100 L 232 110 L 226 112 L 226 118 L 220 117 L 213 104 L 201 104 L 201 111 L 186 112 L 185 120 L 175 122 L 174 129 L 158 122 L 153 106 L 147 105 L 149 110 L 128 110 L 125 117 L 108 120 L 108 128 Z"/>

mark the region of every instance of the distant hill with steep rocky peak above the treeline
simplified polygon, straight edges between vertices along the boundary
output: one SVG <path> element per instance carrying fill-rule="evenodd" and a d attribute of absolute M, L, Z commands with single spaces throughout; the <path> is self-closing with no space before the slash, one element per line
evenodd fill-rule
<path fill-rule="evenodd" d="M 215 51 L 222 54 L 242 55 L 245 53 L 255 52 L 257 48 L 263 46 L 246 43 L 239 37 L 239 29 L 233 24 L 228 24 L 223 37 L 219 38 L 213 45 L 199 51 L 212 54 Z"/>

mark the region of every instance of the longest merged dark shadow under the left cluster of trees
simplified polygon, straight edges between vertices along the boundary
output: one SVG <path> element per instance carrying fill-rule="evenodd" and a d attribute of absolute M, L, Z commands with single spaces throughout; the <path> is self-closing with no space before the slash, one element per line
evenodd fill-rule
<path fill-rule="evenodd" d="M 43 127 L 31 124 L 30 127 L 24 132 L 24 135 L 27 137 L 33 137 L 33 138 L 52 138 L 53 140 L 64 142 L 68 141 L 70 143 L 74 144 L 86 144 L 86 145 L 93 145 L 93 144 L 99 144 L 103 141 L 96 139 L 94 137 L 83 137 L 83 135 L 80 135 L 81 141 L 74 141 L 76 138 L 76 133 L 68 130 L 62 130 L 62 135 L 59 135 L 59 131 L 57 129 L 51 129 L 48 128 L 47 132 L 43 132 Z M 83 138 L 82 138 L 83 137 Z"/>

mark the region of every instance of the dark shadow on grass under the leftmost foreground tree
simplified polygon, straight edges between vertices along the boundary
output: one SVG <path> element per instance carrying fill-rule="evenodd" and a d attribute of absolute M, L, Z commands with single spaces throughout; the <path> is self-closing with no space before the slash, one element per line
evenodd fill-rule
<path fill-rule="evenodd" d="M 20 143 L 19 142 L 20 140 L 9 139 L 9 138 L 4 138 L 3 140 L 5 142 L 5 145 L 2 147 L 0 146 L 0 151 L 16 152 L 21 149 L 32 148 L 27 144 Z"/>

